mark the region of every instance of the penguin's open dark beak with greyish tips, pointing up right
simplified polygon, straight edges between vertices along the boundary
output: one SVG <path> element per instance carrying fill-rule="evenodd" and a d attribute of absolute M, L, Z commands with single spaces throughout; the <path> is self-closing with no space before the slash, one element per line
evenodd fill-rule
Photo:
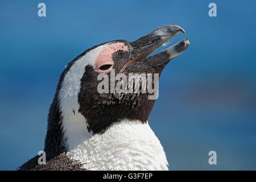
<path fill-rule="evenodd" d="M 155 53 L 152 56 L 147 57 L 151 52 L 155 51 L 156 48 L 162 46 L 165 42 L 170 40 L 179 32 L 185 31 L 183 28 L 169 24 L 156 29 L 148 35 L 131 42 L 131 59 L 123 66 L 122 70 L 134 69 L 136 67 L 150 67 L 156 68 L 161 72 L 164 66 L 174 57 L 180 55 L 189 46 L 188 39 L 183 39 L 174 46 L 167 48 L 161 52 Z M 160 68 L 160 69 L 158 69 Z"/>

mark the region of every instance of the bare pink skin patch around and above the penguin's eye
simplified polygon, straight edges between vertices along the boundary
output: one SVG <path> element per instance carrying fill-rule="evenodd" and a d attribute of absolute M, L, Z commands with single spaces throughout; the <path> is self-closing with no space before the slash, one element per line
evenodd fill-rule
<path fill-rule="evenodd" d="M 95 61 L 96 69 L 100 73 L 108 73 L 111 68 L 113 68 L 114 61 L 112 59 L 112 54 L 117 51 L 128 51 L 128 47 L 123 43 L 109 44 L 107 47 L 103 48 L 98 54 L 98 57 Z M 100 67 L 103 65 L 112 65 L 109 69 L 101 70 Z"/>

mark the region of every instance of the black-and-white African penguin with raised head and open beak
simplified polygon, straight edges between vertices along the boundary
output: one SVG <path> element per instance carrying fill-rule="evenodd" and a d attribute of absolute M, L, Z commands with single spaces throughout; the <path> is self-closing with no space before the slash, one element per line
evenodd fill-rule
<path fill-rule="evenodd" d="M 149 93 L 99 93 L 98 75 L 160 75 L 189 46 L 188 39 L 148 55 L 179 32 L 185 33 L 166 25 L 134 42 L 94 46 L 71 61 L 49 109 L 46 164 L 35 156 L 19 170 L 168 170 L 166 154 L 147 121 L 155 100 L 148 99 Z"/>

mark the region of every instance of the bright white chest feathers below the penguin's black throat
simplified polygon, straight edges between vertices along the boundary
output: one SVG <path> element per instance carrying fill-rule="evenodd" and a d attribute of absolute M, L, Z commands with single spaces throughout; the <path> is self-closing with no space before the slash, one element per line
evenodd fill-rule
<path fill-rule="evenodd" d="M 104 134 L 69 143 L 68 155 L 89 170 L 168 170 L 158 138 L 139 121 L 121 121 Z"/>

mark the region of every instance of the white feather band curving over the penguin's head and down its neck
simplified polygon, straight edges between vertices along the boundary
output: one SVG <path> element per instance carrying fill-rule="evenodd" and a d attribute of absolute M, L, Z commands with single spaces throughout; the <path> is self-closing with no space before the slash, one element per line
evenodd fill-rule
<path fill-rule="evenodd" d="M 81 78 L 84 75 L 86 65 L 92 65 L 96 68 L 95 63 L 99 57 L 103 56 L 102 59 L 104 59 L 104 56 L 111 56 L 108 54 L 112 54 L 113 51 L 118 51 L 122 47 L 127 48 L 123 43 L 106 43 L 98 46 L 76 60 L 64 76 L 59 92 L 59 102 L 67 148 L 73 148 L 83 140 L 92 137 L 92 133 L 89 133 L 87 129 L 86 119 L 79 113 L 80 105 L 78 102 Z"/>

